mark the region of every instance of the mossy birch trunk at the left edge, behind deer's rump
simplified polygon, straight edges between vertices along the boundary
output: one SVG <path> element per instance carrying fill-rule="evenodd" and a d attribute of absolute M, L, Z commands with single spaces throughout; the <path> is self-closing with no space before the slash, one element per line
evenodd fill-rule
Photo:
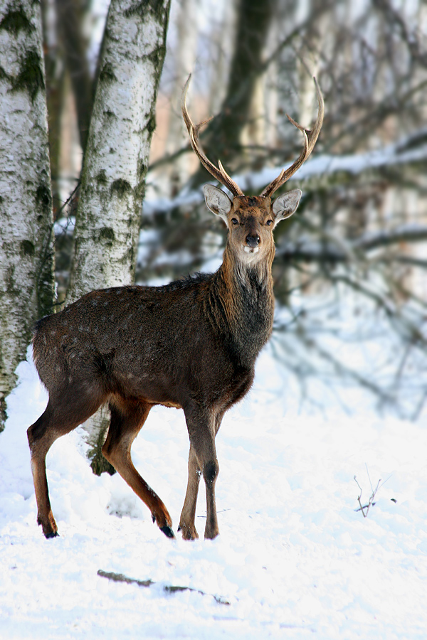
<path fill-rule="evenodd" d="M 0 4 L 0 425 L 33 322 L 53 311 L 53 219 L 40 4 Z M 1 430 L 1 426 L 0 426 Z"/>

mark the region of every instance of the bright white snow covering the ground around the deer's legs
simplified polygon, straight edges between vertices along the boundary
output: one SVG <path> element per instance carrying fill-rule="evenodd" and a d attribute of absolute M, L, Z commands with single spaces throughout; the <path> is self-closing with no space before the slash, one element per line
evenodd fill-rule
<path fill-rule="evenodd" d="M 0 434 L 2 640 L 426 637 L 421 422 L 364 412 L 362 396 L 352 417 L 332 405 L 298 415 L 268 346 L 253 390 L 218 433 L 216 540 L 165 538 L 118 474 L 92 474 L 78 430 L 48 454 L 60 538 L 46 540 L 26 429 L 47 397 L 30 354 L 18 373 Z M 156 407 L 132 449 L 175 527 L 188 446 L 183 413 Z M 354 476 L 362 505 L 384 483 L 367 518 Z M 204 514 L 202 489 L 200 531 Z"/>

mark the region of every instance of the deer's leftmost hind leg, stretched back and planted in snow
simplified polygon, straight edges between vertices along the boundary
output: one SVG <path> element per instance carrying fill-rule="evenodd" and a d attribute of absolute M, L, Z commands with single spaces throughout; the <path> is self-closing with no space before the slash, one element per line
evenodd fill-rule
<path fill-rule="evenodd" d="M 58 399 L 59 398 L 59 399 Z M 73 431 L 75 427 L 95 413 L 102 400 L 85 401 L 84 393 L 73 393 L 73 402 L 67 402 L 68 394 L 58 394 L 56 400 L 49 399 L 48 406 L 41 417 L 28 427 L 27 436 L 31 452 L 31 471 L 37 501 L 37 522 L 41 525 L 46 538 L 58 535 L 58 527 L 49 500 L 48 479 L 46 477 L 46 454 L 58 437 Z M 80 404 L 75 402 L 80 399 Z"/>

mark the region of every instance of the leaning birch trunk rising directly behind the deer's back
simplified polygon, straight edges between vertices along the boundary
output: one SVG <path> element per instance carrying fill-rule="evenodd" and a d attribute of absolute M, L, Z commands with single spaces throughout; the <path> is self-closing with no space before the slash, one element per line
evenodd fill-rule
<path fill-rule="evenodd" d="M 132 284 L 170 0 L 112 0 L 85 153 L 68 302 Z M 85 423 L 95 473 L 107 410 Z M 107 470 L 110 470 L 108 468 Z"/>

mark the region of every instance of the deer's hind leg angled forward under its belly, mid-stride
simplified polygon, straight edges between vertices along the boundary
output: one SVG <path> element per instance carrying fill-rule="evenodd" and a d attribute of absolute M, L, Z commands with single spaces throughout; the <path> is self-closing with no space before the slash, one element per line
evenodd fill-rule
<path fill-rule="evenodd" d="M 174 538 L 172 518 L 162 500 L 139 475 L 132 462 L 130 449 L 139 430 L 144 425 L 152 405 L 147 402 L 122 400 L 110 404 L 111 422 L 102 454 L 114 466 L 135 494 L 141 498 L 152 513 L 153 522 L 167 538 Z"/>

